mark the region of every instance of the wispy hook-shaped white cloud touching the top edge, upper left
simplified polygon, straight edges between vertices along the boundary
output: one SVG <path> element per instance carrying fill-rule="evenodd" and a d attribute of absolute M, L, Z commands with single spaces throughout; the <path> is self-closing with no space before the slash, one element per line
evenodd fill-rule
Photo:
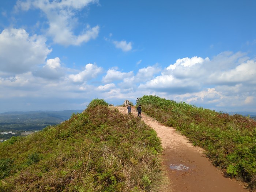
<path fill-rule="evenodd" d="M 90 39 L 95 39 L 99 33 L 99 26 L 90 27 L 79 35 L 74 34 L 75 26 L 78 21 L 75 18 L 76 11 L 88 6 L 90 3 L 98 3 L 98 0 L 26 0 L 17 1 L 16 10 L 28 11 L 37 8 L 44 12 L 48 21 L 49 29 L 47 34 L 53 38 L 53 41 L 61 45 L 80 45 Z"/>

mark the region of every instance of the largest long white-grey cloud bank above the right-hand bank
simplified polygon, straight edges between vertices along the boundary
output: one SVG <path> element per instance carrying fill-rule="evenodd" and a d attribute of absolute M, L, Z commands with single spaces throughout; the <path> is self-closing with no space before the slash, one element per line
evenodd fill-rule
<path fill-rule="evenodd" d="M 145 89 L 191 87 L 187 91 L 193 92 L 203 87 L 235 85 L 241 82 L 252 83 L 255 82 L 256 69 L 253 67 L 255 61 L 246 61 L 246 59 L 245 54 L 240 52 L 235 54 L 223 52 L 212 60 L 208 57 L 178 59 L 176 63 L 166 67 L 160 76 L 146 84 L 141 84 L 140 87 Z"/>

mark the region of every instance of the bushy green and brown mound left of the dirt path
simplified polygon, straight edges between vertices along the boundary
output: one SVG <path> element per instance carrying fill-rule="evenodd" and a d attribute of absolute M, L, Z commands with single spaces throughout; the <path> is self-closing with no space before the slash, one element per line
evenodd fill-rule
<path fill-rule="evenodd" d="M 159 191 L 156 132 L 94 99 L 83 113 L 0 143 L 0 191 Z"/>

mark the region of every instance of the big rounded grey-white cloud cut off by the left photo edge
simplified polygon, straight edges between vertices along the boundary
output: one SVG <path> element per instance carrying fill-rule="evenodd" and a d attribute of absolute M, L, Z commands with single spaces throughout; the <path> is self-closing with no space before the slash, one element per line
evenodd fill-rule
<path fill-rule="evenodd" d="M 21 74 L 43 64 L 52 51 L 46 39 L 29 36 L 25 29 L 5 29 L 0 34 L 0 71 Z"/>

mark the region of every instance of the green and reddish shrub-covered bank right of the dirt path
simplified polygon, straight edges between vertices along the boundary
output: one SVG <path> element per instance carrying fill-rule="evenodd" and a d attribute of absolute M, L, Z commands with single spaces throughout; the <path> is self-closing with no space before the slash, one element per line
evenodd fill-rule
<path fill-rule="evenodd" d="M 256 121 L 152 95 L 144 95 L 137 103 L 148 115 L 203 147 L 212 164 L 227 176 L 242 178 L 256 189 Z"/>

